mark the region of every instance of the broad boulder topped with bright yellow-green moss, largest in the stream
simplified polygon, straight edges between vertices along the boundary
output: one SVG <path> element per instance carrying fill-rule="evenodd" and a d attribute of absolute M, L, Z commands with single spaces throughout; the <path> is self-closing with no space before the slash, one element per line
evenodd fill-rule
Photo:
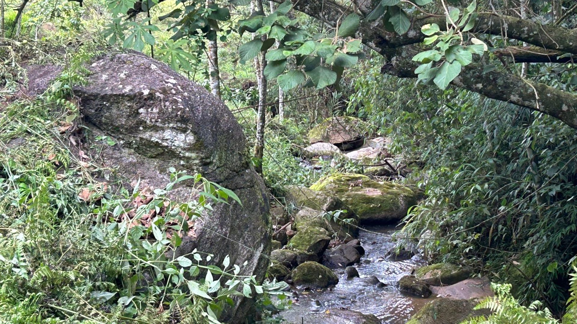
<path fill-rule="evenodd" d="M 311 190 L 340 198 L 357 214 L 361 223 L 393 223 L 416 204 L 409 187 L 394 182 L 376 182 L 359 174 L 332 174 L 320 179 Z"/>

